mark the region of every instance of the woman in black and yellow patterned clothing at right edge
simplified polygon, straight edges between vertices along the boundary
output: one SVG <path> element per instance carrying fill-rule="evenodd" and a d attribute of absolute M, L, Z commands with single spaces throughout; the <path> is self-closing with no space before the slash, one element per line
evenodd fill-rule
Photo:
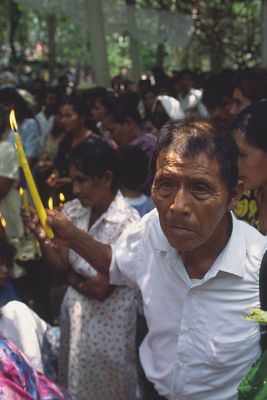
<path fill-rule="evenodd" d="M 237 117 L 234 138 L 239 150 L 239 175 L 245 189 L 236 215 L 267 234 L 267 101 L 253 103 Z"/>

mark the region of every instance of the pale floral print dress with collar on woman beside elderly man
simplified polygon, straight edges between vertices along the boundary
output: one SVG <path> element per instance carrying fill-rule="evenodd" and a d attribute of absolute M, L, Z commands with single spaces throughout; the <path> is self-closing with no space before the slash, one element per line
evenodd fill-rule
<path fill-rule="evenodd" d="M 79 200 L 66 203 L 63 212 L 88 231 L 91 210 Z M 115 243 L 125 227 L 139 220 L 120 192 L 88 233 L 106 244 Z M 84 277 L 95 270 L 73 251 L 72 268 Z M 69 287 L 61 308 L 60 382 L 75 400 L 135 400 L 136 306 L 135 290 L 117 287 L 103 302 Z"/>

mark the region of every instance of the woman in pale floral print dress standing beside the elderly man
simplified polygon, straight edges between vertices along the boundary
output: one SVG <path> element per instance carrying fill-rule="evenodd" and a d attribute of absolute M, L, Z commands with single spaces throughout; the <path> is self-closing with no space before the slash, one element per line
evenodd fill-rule
<path fill-rule="evenodd" d="M 100 138 L 87 138 L 70 155 L 76 199 L 63 212 L 106 244 L 139 220 L 118 191 L 118 173 L 116 151 Z M 110 286 L 68 248 L 42 246 L 47 260 L 68 272 L 70 284 L 61 310 L 61 383 L 76 400 L 136 399 L 135 291 Z"/>

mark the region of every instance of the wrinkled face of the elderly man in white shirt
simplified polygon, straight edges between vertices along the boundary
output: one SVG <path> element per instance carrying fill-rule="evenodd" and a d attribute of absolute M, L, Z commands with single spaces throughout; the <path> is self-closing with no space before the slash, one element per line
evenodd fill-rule
<path fill-rule="evenodd" d="M 184 159 L 173 149 L 158 158 L 152 197 L 169 243 L 185 253 L 213 246 L 234 205 L 217 160 L 204 153 Z"/>

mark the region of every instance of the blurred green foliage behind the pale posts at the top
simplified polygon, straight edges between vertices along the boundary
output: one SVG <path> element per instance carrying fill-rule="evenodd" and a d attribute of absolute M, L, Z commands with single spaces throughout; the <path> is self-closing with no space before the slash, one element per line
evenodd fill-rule
<path fill-rule="evenodd" d="M 218 70 L 223 66 L 240 67 L 260 64 L 260 0 L 114 0 L 153 7 L 168 12 L 192 15 L 195 32 L 184 49 L 164 43 L 164 67 L 167 71 L 183 67 Z M 89 70 L 90 43 L 86 33 L 70 18 L 56 16 L 54 36 L 56 59 L 64 65 Z M 49 53 L 48 17 L 12 0 L 0 2 L 0 51 L 2 60 L 11 50 L 25 59 L 47 60 Z M 13 31 L 11 27 L 13 26 Z M 41 44 L 41 46 L 40 46 Z M 125 33 L 107 38 L 112 75 L 131 68 L 129 37 Z M 142 71 L 157 63 L 156 45 L 140 43 Z M 14 56 L 14 54 L 13 54 Z"/>

